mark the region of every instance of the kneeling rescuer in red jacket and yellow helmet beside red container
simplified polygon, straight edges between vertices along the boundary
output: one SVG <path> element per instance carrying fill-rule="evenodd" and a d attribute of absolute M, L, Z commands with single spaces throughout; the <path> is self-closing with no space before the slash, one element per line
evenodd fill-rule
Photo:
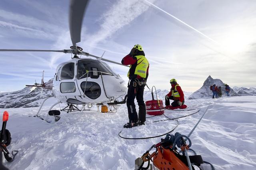
<path fill-rule="evenodd" d="M 172 78 L 170 84 L 172 86 L 171 91 L 165 96 L 166 109 L 182 108 L 182 106 L 186 108 L 183 91 L 180 85 L 177 84 L 176 79 Z M 170 106 L 170 100 L 174 100 L 171 104 L 172 106 Z"/>

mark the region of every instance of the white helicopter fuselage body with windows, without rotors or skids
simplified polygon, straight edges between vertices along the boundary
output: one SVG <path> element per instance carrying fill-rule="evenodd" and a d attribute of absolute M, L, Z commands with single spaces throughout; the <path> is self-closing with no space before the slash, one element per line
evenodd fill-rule
<path fill-rule="evenodd" d="M 127 87 L 108 64 L 97 59 L 74 58 L 58 65 L 52 90 L 59 102 L 98 104 L 126 95 Z"/>

